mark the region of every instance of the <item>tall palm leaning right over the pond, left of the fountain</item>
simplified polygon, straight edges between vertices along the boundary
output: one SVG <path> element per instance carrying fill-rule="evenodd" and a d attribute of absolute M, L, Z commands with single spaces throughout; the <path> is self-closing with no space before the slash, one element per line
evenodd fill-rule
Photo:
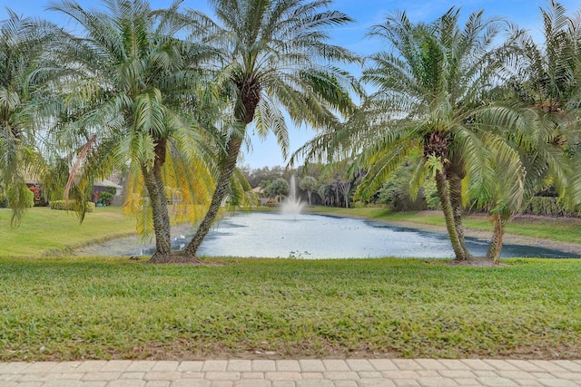
<path fill-rule="evenodd" d="M 219 22 L 192 11 L 197 28 L 192 38 L 212 44 L 222 55 L 215 63 L 230 82 L 234 125 L 224 133 L 226 154 L 218 160 L 219 177 L 208 212 L 192 242 L 194 256 L 212 226 L 227 192 L 232 171 L 254 122 L 266 136 L 272 131 L 283 154 L 288 148 L 287 125 L 281 109 L 295 124 L 328 127 L 353 107 L 349 91 L 359 92 L 349 73 L 330 61 L 353 62 L 347 50 L 327 44 L 328 29 L 350 22 L 338 11 L 320 10 L 330 0 L 211 0 Z"/>

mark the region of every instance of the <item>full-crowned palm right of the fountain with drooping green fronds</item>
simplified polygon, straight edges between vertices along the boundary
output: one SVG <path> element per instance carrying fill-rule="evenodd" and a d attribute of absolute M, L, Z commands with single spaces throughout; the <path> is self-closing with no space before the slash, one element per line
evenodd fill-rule
<path fill-rule="evenodd" d="M 391 49 L 372 55 L 364 71 L 363 80 L 378 91 L 340 130 L 321 133 L 297 155 L 318 158 L 322 150 L 328 159 L 356 156 L 352 165 L 368 168 L 356 192 L 366 199 L 410 154 L 421 152 L 411 184 L 417 190 L 428 173 L 434 175 L 455 260 L 465 261 L 472 256 L 462 226 L 462 182 L 485 188 L 493 179 L 489 146 L 501 141 L 484 139 L 476 123 L 510 44 L 494 45 L 501 20 L 477 12 L 460 26 L 459 15 L 451 8 L 433 23 L 414 24 L 401 12 L 373 26 L 369 35 Z M 518 176 L 514 161 L 507 173 Z"/>

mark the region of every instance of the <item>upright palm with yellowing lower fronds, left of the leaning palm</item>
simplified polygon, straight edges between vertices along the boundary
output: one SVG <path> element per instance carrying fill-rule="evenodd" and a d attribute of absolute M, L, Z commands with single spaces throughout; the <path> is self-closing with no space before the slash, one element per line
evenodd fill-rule
<path fill-rule="evenodd" d="M 172 189 L 195 204 L 213 188 L 217 102 L 197 64 L 208 51 L 176 38 L 186 25 L 180 2 L 167 10 L 152 10 L 144 0 L 103 5 L 104 11 L 68 0 L 50 5 L 83 29 L 63 36 L 54 50 L 63 63 L 58 87 L 64 95 L 54 110 L 60 119 L 54 139 L 78 152 L 69 186 L 81 202 L 94 179 L 127 170 L 125 207 L 136 213 L 138 231 L 155 236 L 151 261 L 175 261 L 167 206 Z"/>

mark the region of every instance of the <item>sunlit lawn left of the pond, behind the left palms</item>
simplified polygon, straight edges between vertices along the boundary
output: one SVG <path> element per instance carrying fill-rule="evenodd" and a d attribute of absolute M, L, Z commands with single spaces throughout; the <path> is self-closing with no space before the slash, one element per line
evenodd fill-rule
<path fill-rule="evenodd" d="M 63 253 L 92 241 L 135 232 L 135 220 L 118 207 L 98 207 L 84 222 L 73 211 L 30 208 L 19 227 L 10 226 L 12 212 L 0 209 L 0 256 L 42 256 Z"/>

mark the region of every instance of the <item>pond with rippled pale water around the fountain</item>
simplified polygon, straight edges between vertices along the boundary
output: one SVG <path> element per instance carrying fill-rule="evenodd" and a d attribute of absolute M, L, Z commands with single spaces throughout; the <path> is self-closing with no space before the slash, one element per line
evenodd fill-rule
<path fill-rule="evenodd" d="M 192 227 L 172 229 L 174 248 L 192 238 Z M 467 237 L 469 250 L 484 256 L 487 241 Z M 125 237 L 77 251 L 86 256 L 139 256 L 153 254 L 153 243 Z M 359 218 L 274 212 L 237 213 L 223 218 L 208 234 L 200 256 L 259 256 L 281 258 L 449 258 L 452 247 L 446 233 L 399 227 Z M 543 247 L 505 244 L 503 257 L 578 257 Z"/>

